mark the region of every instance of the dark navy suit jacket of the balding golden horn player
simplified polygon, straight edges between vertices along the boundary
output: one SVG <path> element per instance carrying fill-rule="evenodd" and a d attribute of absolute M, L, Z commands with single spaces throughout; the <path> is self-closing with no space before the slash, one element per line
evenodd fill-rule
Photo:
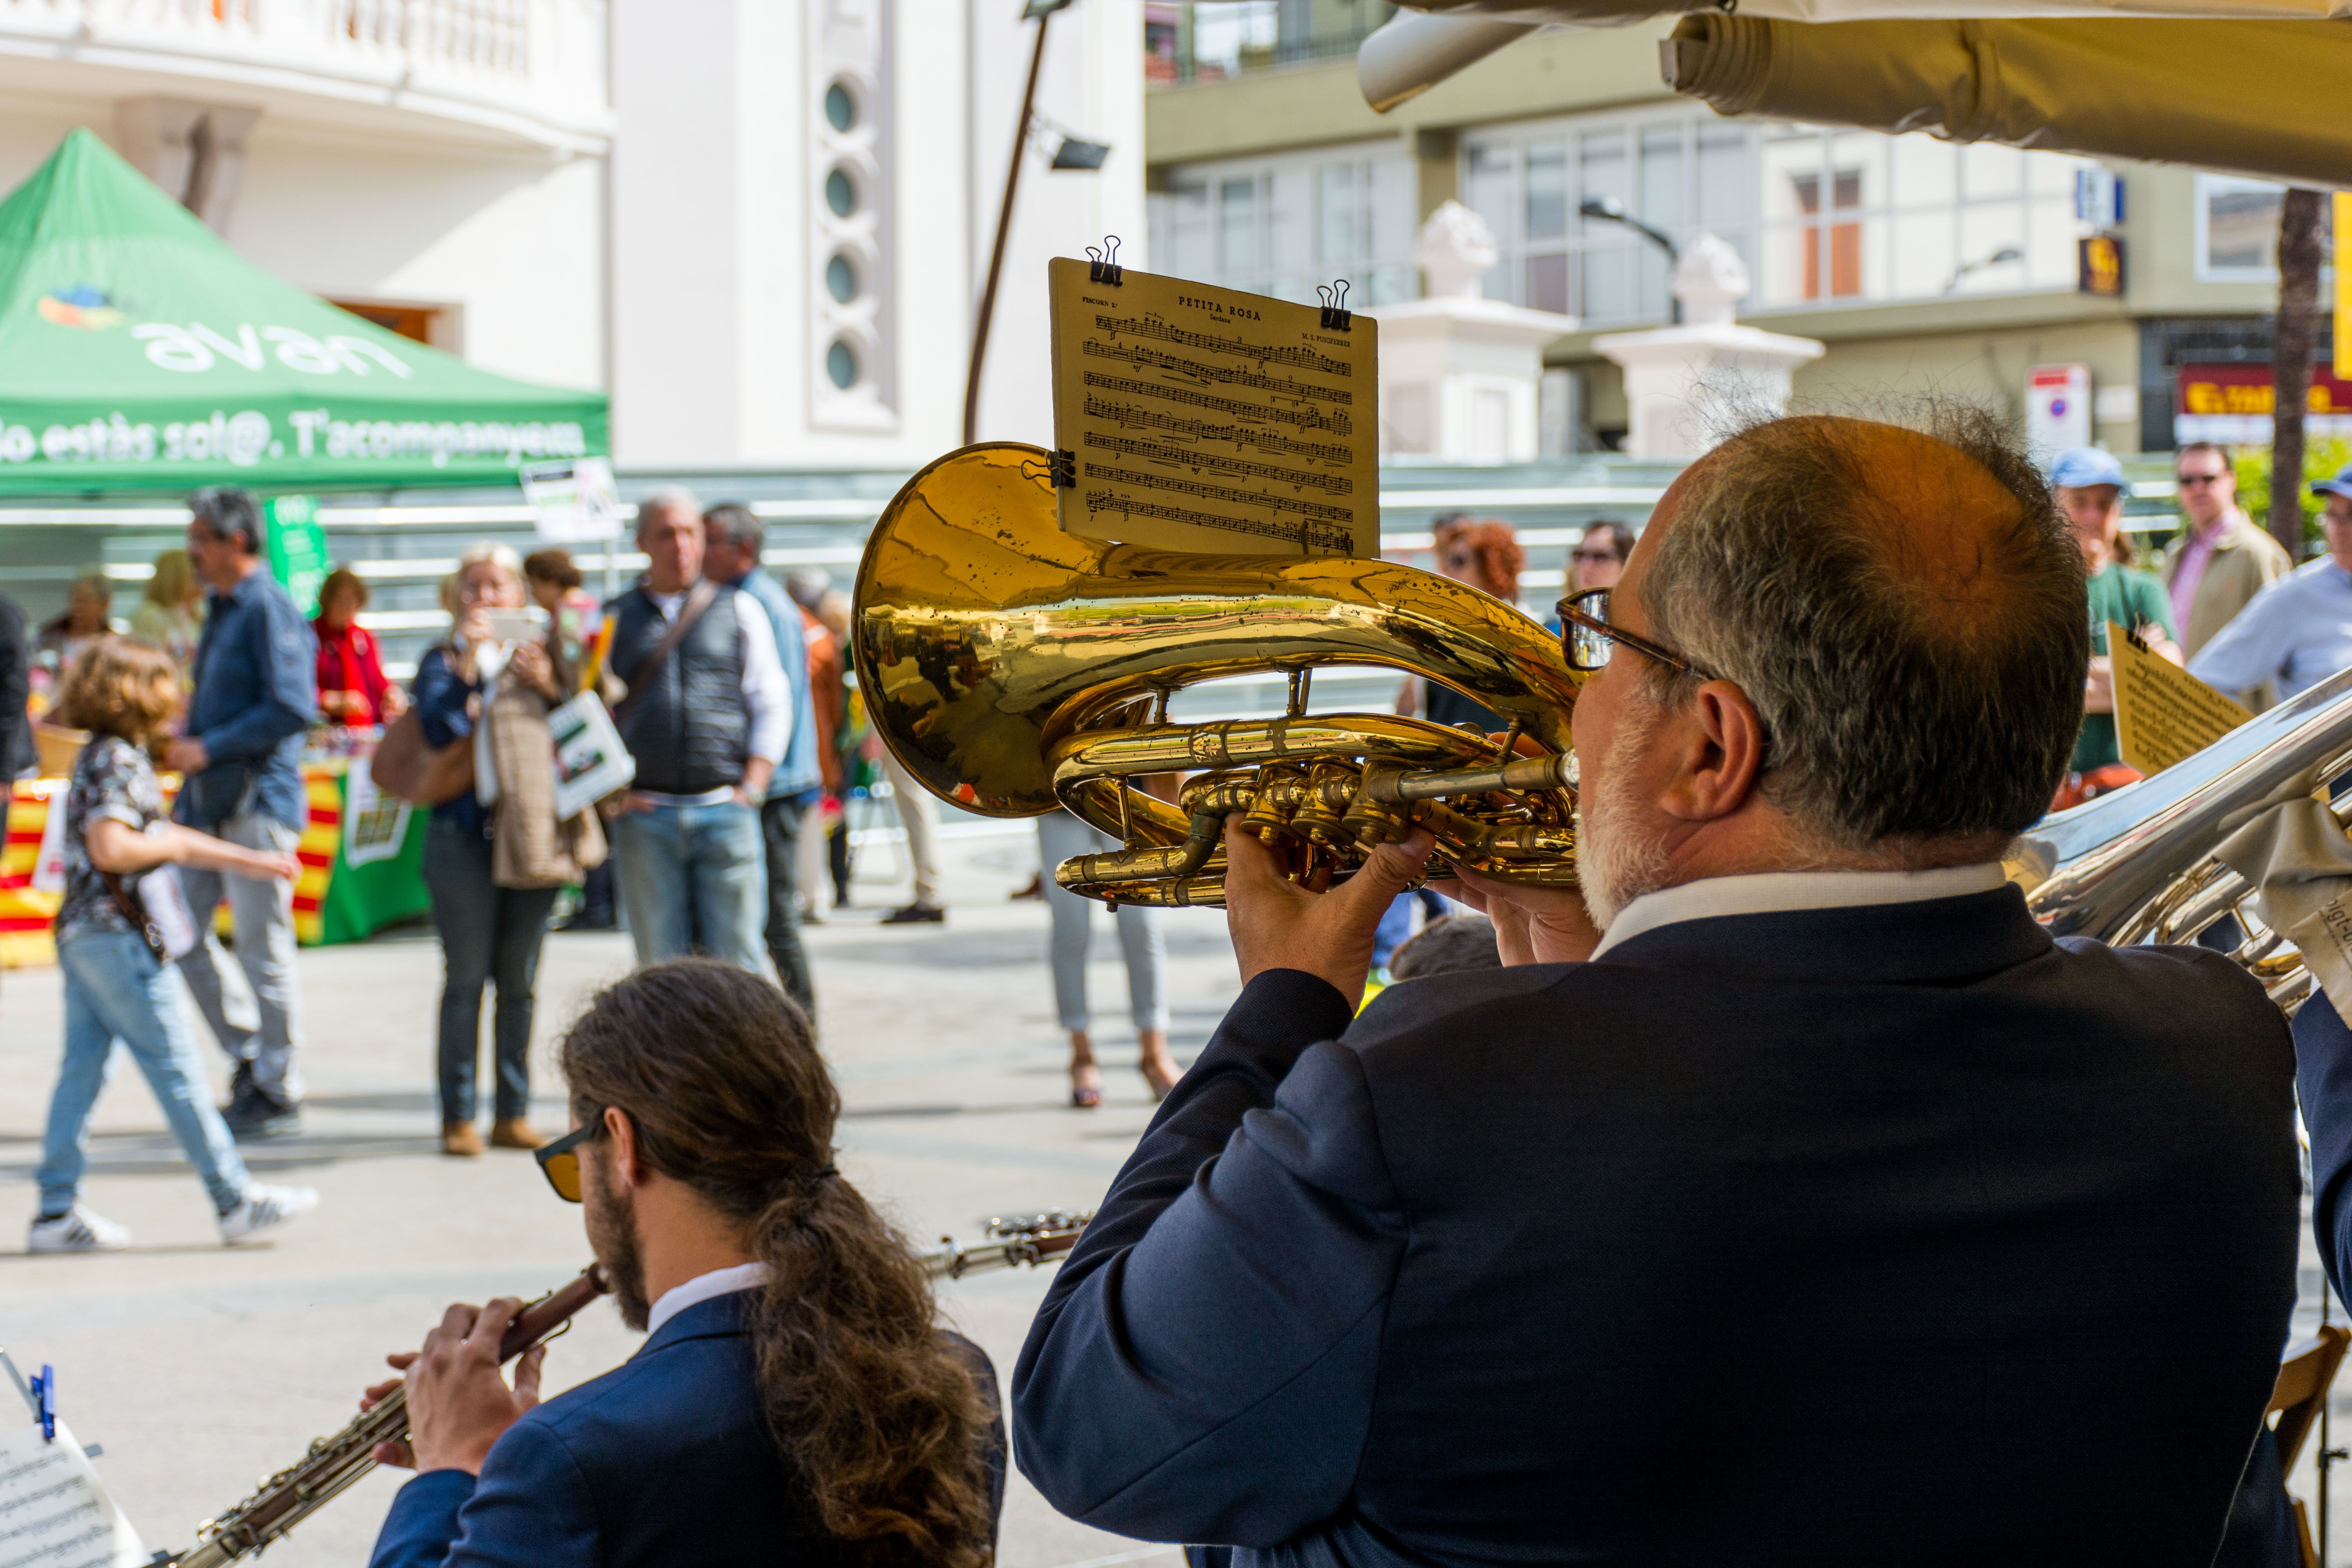
<path fill-rule="evenodd" d="M 2006 886 L 1357 1020 L 1265 973 L 1040 1307 L 1018 1462 L 1240 1563 L 2204 1568 L 2296 1295 L 2291 1079 L 2232 964 Z"/>

